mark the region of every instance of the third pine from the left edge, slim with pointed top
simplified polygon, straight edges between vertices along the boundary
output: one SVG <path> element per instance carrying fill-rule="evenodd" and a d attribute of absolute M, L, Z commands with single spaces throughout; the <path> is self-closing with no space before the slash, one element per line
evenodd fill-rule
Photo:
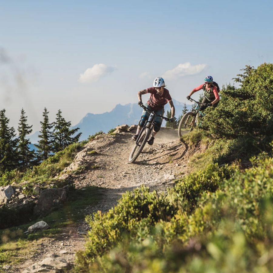
<path fill-rule="evenodd" d="M 41 131 L 40 135 L 38 137 L 40 140 L 38 140 L 38 144 L 34 144 L 35 147 L 38 149 L 38 159 L 39 160 L 45 160 L 49 157 L 50 153 L 52 152 L 52 123 L 49 123 L 49 112 L 47 109 L 44 109 L 43 112 L 43 121 L 40 121 L 41 124 Z"/>

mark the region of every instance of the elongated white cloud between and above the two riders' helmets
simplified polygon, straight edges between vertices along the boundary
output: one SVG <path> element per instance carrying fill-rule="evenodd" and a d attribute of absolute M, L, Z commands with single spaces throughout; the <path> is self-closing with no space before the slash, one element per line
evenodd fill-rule
<path fill-rule="evenodd" d="M 174 69 L 168 70 L 163 74 L 164 79 L 178 79 L 183 76 L 198 74 L 205 69 L 206 64 L 192 66 L 190 62 L 180 63 Z"/>

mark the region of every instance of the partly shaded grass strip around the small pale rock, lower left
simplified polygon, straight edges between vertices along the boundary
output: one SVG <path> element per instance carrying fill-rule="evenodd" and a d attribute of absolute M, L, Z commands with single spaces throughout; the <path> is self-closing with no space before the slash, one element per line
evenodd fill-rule
<path fill-rule="evenodd" d="M 69 201 L 57 211 L 28 224 L 0 230 L 0 272 L 1 265 L 15 265 L 30 258 L 36 252 L 39 240 L 58 236 L 64 227 L 76 225 L 84 219 L 87 206 L 96 205 L 103 194 L 98 187 L 86 187 L 69 193 Z M 45 221 L 49 229 L 31 234 L 23 232 L 38 221 Z"/>

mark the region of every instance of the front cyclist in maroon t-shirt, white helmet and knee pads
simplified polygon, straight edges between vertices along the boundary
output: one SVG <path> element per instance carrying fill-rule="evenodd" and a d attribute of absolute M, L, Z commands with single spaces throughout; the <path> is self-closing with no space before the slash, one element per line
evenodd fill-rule
<path fill-rule="evenodd" d="M 150 98 L 145 104 L 145 106 L 149 109 L 154 111 L 157 115 L 163 116 L 164 115 L 164 105 L 169 103 L 171 108 L 171 118 L 170 122 L 174 122 L 174 103 L 172 101 L 172 98 L 170 96 L 169 90 L 165 88 L 165 82 L 164 79 L 161 77 L 157 77 L 153 81 L 153 87 L 149 87 L 147 89 L 143 89 L 137 93 L 138 97 L 138 105 L 142 106 L 142 99 L 141 95 L 150 93 Z M 146 120 L 148 120 L 150 116 L 150 113 L 143 110 L 142 116 L 140 118 L 140 121 L 137 126 L 136 135 L 132 137 L 133 140 L 136 140 L 142 127 L 144 126 Z M 160 130 L 161 124 L 162 124 L 162 118 L 160 116 L 157 116 L 155 119 L 155 126 L 153 127 L 152 136 L 147 141 L 149 145 L 153 145 L 154 137 L 157 134 L 157 132 Z"/>

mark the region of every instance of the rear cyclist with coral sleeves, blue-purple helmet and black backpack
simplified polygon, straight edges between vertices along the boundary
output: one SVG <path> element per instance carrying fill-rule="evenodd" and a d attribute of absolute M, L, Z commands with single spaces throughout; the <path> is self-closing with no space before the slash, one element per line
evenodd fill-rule
<path fill-rule="evenodd" d="M 190 96 L 203 89 L 204 91 L 204 99 L 202 100 L 202 103 L 206 104 L 204 106 L 200 107 L 200 110 L 204 110 L 207 108 L 207 106 L 213 106 L 216 107 L 219 103 L 220 97 L 217 91 L 217 87 L 213 85 L 213 78 L 212 76 L 207 76 L 204 79 L 205 84 L 201 84 L 197 86 L 196 88 L 192 89 L 189 96 L 187 96 L 187 99 L 190 99 Z"/>

